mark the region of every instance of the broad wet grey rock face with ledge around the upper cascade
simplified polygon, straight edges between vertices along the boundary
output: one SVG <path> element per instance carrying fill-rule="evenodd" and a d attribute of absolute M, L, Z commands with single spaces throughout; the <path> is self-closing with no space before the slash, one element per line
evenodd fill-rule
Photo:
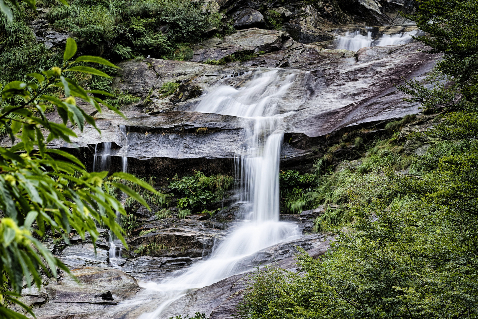
<path fill-rule="evenodd" d="M 418 104 L 403 102 L 394 85 L 402 83 L 402 78 L 423 78 L 436 58 L 420 51 L 424 46 L 417 43 L 367 47 L 355 53 L 297 43 L 282 31 L 253 29 L 231 39 L 242 39 L 244 34 L 255 34 L 251 36 L 257 42 L 250 42 L 251 51 L 264 43 L 270 47 L 276 43 L 278 50 L 225 66 L 160 59 L 121 63 L 122 74 L 115 86 L 142 101 L 124 110 L 127 119 L 109 111 L 96 113 L 101 135 L 88 125 L 83 133 L 77 132 L 73 141 L 80 147 L 78 155 L 91 167 L 95 145 L 111 142 L 112 170 L 120 169 L 121 156 L 128 156 L 130 172 L 140 176 L 161 171 L 165 179 L 194 170 L 233 174 L 245 120 L 195 112 L 195 107 L 218 86 L 240 88 L 256 74 L 280 66 L 271 72 L 279 78 L 294 78 L 278 105 L 281 113 L 290 114 L 284 118 L 282 166 L 300 163 L 297 168 L 306 169 L 321 156 L 320 145 L 327 135 L 332 143 L 343 132 L 417 113 Z M 215 58 L 227 53 L 212 47 L 198 50 L 207 50 Z M 208 58 L 206 51 L 197 52 L 203 58 L 199 53 L 195 58 Z M 167 82 L 178 84 L 178 89 L 163 97 L 160 91 Z M 120 125 L 128 127 L 127 136 L 120 132 Z M 203 128 L 200 133 L 199 128 Z M 8 145 L 8 137 L 2 143 Z M 49 145 L 76 152 L 67 143 Z"/>

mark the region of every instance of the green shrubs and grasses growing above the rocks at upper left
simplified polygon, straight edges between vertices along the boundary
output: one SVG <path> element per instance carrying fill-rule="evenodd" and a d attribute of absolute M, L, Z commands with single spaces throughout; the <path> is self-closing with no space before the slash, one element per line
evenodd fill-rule
<path fill-rule="evenodd" d="M 58 49 L 37 44 L 27 26 L 37 15 L 35 1 L 20 2 L 18 8 L 16 0 L 5 2 L 0 8 L 0 82 L 21 79 L 38 67 L 60 65 L 62 56 L 57 54 Z M 39 5 L 49 8 L 47 19 L 54 30 L 72 34 L 83 54 L 99 55 L 113 62 L 147 55 L 188 60 L 193 55 L 191 43 L 234 32 L 220 14 L 203 11 L 202 1 L 68 2 L 41 1 Z M 209 34 L 210 30 L 214 32 Z M 86 78 L 90 88 L 94 77 Z M 109 85 L 97 89 L 109 92 Z"/>

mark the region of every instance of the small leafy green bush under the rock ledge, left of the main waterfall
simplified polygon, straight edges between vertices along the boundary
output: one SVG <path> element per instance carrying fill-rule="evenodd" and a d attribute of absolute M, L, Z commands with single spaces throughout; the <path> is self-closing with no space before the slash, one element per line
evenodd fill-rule
<path fill-rule="evenodd" d="M 173 180 L 169 184 L 169 188 L 177 197 L 180 197 L 177 202 L 177 207 L 180 209 L 178 217 L 184 215 L 185 209 L 204 210 L 207 205 L 221 200 L 226 191 L 234 185 L 234 178 L 231 176 L 219 174 L 206 177 L 201 172 L 197 172 L 193 176 L 185 176 L 182 179 L 178 179 L 176 176 Z"/>

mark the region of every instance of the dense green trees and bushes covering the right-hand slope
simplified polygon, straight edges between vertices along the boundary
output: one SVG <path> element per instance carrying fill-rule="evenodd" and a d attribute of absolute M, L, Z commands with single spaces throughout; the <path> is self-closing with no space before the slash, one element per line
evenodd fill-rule
<path fill-rule="evenodd" d="M 414 80 L 400 87 L 425 114 L 442 113 L 434 128 L 410 136 L 429 149 L 407 156 L 394 133 L 336 173 L 319 167 L 315 204 L 339 206 L 315 226 L 337 241 L 319 259 L 302 252 L 297 273 L 253 274 L 239 318 L 478 316 L 478 3 L 418 0 L 409 18 L 429 33 L 418 39 L 444 54 L 426 87 Z"/>

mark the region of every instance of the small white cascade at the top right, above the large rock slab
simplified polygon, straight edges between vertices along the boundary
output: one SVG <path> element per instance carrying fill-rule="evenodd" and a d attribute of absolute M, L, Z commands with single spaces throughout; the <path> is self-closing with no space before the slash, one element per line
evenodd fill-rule
<path fill-rule="evenodd" d="M 358 51 L 360 48 L 368 46 L 383 46 L 393 44 L 410 43 L 413 35 L 417 35 L 418 31 L 409 31 L 395 34 L 383 34 L 379 39 L 374 40 L 372 33 L 367 32 L 367 36 L 360 34 L 359 30 L 352 33 L 346 32 L 344 36 L 337 37 L 337 49 L 345 49 L 350 51 Z"/>

